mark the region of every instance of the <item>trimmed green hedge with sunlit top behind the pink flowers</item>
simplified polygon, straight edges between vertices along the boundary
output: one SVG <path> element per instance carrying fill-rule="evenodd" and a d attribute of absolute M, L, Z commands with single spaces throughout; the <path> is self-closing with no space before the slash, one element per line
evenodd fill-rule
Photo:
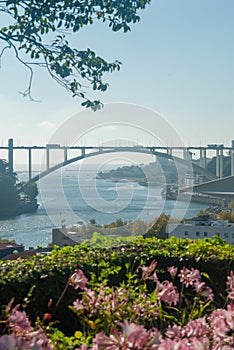
<path fill-rule="evenodd" d="M 1 262 L 1 304 L 7 304 L 12 298 L 16 304 L 24 304 L 30 288 L 35 286 L 26 310 L 30 318 L 36 320 L 37 316 L 42 318 L 44 313 L 53 311 L 76 268 L 82 269 L 89 279 L 92 273 L 95 274 L 97 282 L 101 276 L 98 283 L 102 278 L 108 278 L 110 285 L 117 285 L 125 278 L 126 263 L 135 271 L 139 265 L 149 265 L 153 259 L 158 261 L 157 272 L 162 277 L 167 276 L 167 267 L 173 265 L 198 268 L 205 276 L 209 275 L 207 284 L 222 304 L 226 277 L 234 269 L 233 246 L 218 237 L 195 241 L 136 237 L 125 241 L 95 233 L 92 240 L 79 246 L 55 249 L 51 254 L 38 254 L 29 260 Z M 114 271 L 115 266 L 121 266 L 121 269 Z M 77 317 L 68 309 L 74 297 L 75 292 L 69 288 L 54 315 L 61 322 L 56 326 L 66 334 L 73 334 L 77 326 Z M 48 306 L 50 299 L 52 302 Z"/>

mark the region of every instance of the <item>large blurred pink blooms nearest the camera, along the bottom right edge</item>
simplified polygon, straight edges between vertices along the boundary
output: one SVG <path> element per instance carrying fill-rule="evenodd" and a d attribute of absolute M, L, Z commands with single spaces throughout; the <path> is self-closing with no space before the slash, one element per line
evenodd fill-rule
<path fill-rule="evenodd" d="M 163 335 L 157 329 L 146 330 L 143 326 L 124 321 L 121 329 L 113 328 L 107 336 L 98 333 L 92 345 L 81 346 L 81 350 L 231 350 L 233 337 L 234 307 L 219 309 L 209 317 L 189 321 L 184 327 L 168 327 Z"/>

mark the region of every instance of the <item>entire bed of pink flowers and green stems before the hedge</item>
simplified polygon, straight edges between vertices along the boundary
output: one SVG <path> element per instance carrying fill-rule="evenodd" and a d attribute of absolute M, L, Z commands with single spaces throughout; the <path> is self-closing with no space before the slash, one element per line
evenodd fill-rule
<path fill-rule="evenodd" d="M 79 323 L 70 340 L 54 329 L 55 314 L 44 314 L 40 326 L 33 327 L 11 302 L 1 321 L 0 350 L 234 349 L 233 271 L 227 278 L 226 307 L 216 309 L 199 270 L 171 266 L 169 278 L 161 281 L 156 268 L 152 261 L 135 272 L 128 269 L 126 280 L 112 287 L 104 275 L 88 281 L 82 270 L 75 270 L 54 308 L 56 312 L 69 288 L 76 291 L 69 307 Z"/>

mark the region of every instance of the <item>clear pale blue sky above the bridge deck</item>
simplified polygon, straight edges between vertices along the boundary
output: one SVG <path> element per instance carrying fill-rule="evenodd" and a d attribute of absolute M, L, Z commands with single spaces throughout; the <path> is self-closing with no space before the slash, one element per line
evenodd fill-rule
<path fill-rule="evenodd" d="M 155 111 L 185 145 L 230 145 L 234 139 L 233 14 L 233 0 L 152 0 L 131 32 L 113 33 L 96 23 L 70 35 L 69 41 L 123 63 L 120 72 L 106 76 L 110 89 L 98 95 L 90 91 L 91 98 Z M 36 69 L 33 78 L 32 95 L 40 102 L 19 94 L 27 88 L 27 79 L 27 70 L 13 52 L 6 51 L 0 68 L 0 145 L 10 137 L 17 145 L 45 145 L 72 116 L 77 114 L 78 124 L 85 123 L 79 114 L 82 101 L 72 98 L 46 71 Z M 97 124 L 101 120 L 98 114 L 92 118 Z M 100 131 L 95 139 L 91 133 L 85 141 L 106 142 L 105 135 Z M 140 131 L 130 139 L 153 142 Z M 170 136 L 167 142 L 172 142 Z"/>

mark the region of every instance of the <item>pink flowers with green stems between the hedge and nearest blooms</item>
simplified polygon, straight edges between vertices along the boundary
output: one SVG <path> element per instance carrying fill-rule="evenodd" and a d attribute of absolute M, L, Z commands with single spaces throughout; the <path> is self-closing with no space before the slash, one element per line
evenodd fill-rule
<path fill-rule="evenodd" d="M 103 329 L 108 334 L 113 325 L 123 320 L 163 331 L 173 322 L 184 325 L 190 319 L 202 317 L 211 307 L 213 293 L 202 281 L 200 272 L 183 268 L 178 273 L 177 268 L 169 267 L 171 281 L 161 282 L 156 266 L 157 262 L 152 261 L 150 266 L 139 267 L 141 278 L 138 271 L 128 273 L 128 280 L 118 287 L 94 284 L 91 289 L 82 275 L 86 287 L 80 287 L 79 297 L 70 308 L 77 314 L 83 334 L 94 336 Z M 180 291 L 173 284 L 176 278 L 181 284 Z"/>

